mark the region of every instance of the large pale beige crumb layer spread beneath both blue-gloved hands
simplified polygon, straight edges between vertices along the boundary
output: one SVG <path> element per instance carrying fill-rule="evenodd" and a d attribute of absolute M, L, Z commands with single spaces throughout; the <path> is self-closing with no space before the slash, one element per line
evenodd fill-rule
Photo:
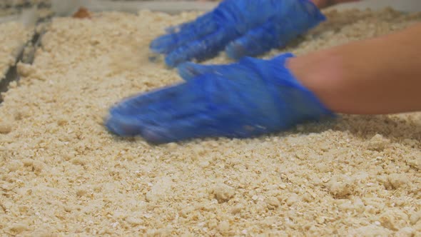
<path fill-rule="evenodd" d="M 147 48 L 197 15 L 54 20 L 0 106 L 0 236 L 420 236 L 421 113 L 162 146 L 108 133 L 113 103 L 181 81 Z M 287 51 L 421 21 L 392 10 L 327 15 Z"/>

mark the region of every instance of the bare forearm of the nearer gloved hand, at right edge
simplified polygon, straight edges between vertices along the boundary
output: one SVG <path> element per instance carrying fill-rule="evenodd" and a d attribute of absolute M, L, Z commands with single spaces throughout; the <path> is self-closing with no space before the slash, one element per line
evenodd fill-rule
<path fill-rule="evenodd" d="M 335 112 L 421 110 L 421 24 L 315 51 L 288 62 L 298 80 Z"/>

